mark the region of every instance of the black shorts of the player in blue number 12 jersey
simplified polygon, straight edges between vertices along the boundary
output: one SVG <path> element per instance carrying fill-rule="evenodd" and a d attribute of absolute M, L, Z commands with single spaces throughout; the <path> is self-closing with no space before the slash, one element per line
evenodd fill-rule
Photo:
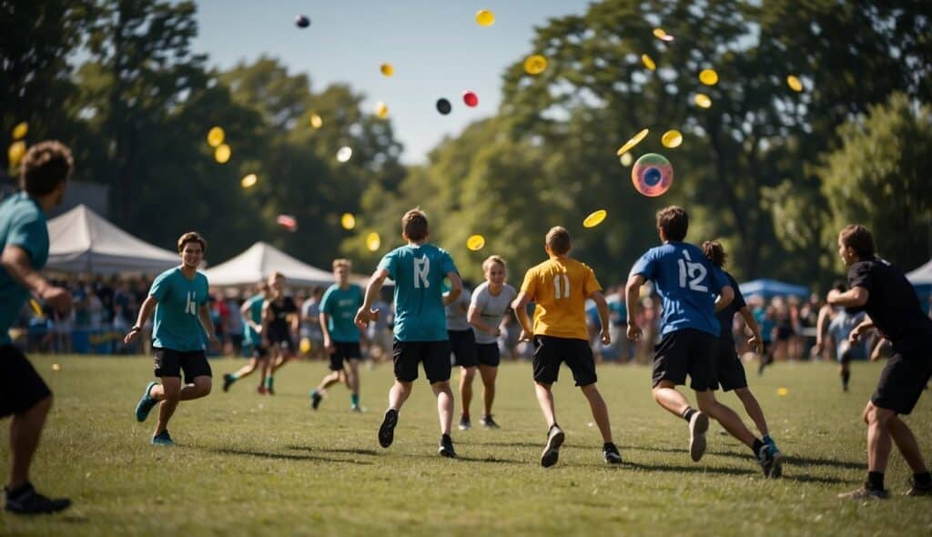
<path fill-rule="evenodd" d="M 719 337 L 702 330 L 683 328 L 670 332 L 654 347 L 654 388 L 661 380 L 686 384 L 689 375 L 690 388 L 696 392 L 714 389 L 718 383 L 715 376 L 718 347 Z"/>

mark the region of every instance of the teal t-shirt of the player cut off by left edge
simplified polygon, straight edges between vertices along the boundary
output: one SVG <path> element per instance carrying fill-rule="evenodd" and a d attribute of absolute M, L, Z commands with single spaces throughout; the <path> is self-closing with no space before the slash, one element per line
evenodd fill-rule
<path fill-rule="evenodd" d="M 0 252 L 19 246 L 29 254 L 31 265 L 41 270 L 48 261 L 46 214 L 26 192 L 0 203 Z M 16 323 L 29 290 L 0 267 L 0 345 L 10 344 L 9 327 Z"/>

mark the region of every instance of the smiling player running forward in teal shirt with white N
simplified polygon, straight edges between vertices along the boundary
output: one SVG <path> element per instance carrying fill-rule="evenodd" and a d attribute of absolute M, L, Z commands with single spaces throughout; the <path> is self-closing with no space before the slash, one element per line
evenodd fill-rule
<path fill-rule="evenodd" d="M 168 426 L 178 403 L 199 399 L 211 392 L 211 365 L 204 355 L 201 327 L 211 343 L 219 342 L 207 306 L 207 276 L 198 271 L 206 250 L 207 242 L 193 231 L 178 239 L 181 266 L 169 268 L 152 282 L 136 324 L 123 338 L 129 345 L 143 330 L 152 310 L 156 311 L 152 354 L 156 377 L 162 383 L 149 382 L 136 406 L 136 420 L 145 421 L 152 407 L 160 403 L 156 432 L 152 435 L 152 444 L 156 446 L 174 446 Z M 184 386 L 182 371 L 185 372 Z"/>

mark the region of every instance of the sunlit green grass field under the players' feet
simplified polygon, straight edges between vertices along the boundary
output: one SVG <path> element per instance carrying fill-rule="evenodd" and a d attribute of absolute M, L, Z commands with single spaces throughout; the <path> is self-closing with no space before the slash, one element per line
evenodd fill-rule
<path fill-rule="evenodd" d="M 52 356 L 34 357 L 34 364 L 57 399 L 33 480 L 41 490 L 71 496 L 75 505 L 57 516 L 2 514 L 0 535 L 932 532 L 932 502 L 898 496 L 910 475 L 898 454 L 887 471 L 893 499 L 835 498 L 864 477 L 859 416 L 879 365 L 856 364 L 847 394 L 831 365 L 780 364 L 750 379 L 787 455 L 783 479 L 765 480 L 750 451 L 716 424 L 706 457 L 690 461 L 686 424 L 652 402 L 646 367 L 599 368 L 625 461 L 615 467 L 602 461 L 588 406 L 564 370 L 555 398 L 567 443 L 559 463 L 543 469 L 545 430 L 527 364 L 500 368 L 500 430 L 454 431 L 458 460 L 436 454 L 435 403 L 424 380 L 403 409 L 394 445 L 378 446 L 391 366 L 363 372 L 363 414 L 349 412 L 343 387 L 317 412 L 308 408 L 308 388 L 324 374 L 322 363 L 281 370 L 274 397 L 256 394 L 255 379 L 228 393 L 215 386 L 175 414 L 170 430 L 177 447 L 152 447 L 158 410 L 143 424 L 133 418 L 150 380 L 150 360 Z M 214 377 L 240 364 L 213 361 Z M 778 395 L 778 388 L 788 393 Z M 723 400 L 739 406 L 732 394 Z M 477 421 L 474 403 L 473 416 Z M 926 394 L 908 422 L 927 457 L 930 419 L 932 396 Z M 4 422 L 5 466 L 7 435 Z"/>

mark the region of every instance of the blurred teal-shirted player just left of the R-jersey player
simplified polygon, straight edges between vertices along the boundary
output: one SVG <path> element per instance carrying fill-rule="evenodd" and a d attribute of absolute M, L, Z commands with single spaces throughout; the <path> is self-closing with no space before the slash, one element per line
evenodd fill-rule
<path fill-rule="evenodd" d="M 359 406 L 359 362 L 363 351 L 359 346 L 359 327 L 356 326 L 356 311 L 363 305 L 363 290 L 349 282 L 352 262 L 349 259 L 334 260 L 334 280 L 321 299 L 321 330 L 323 347 L 330 355 L 330 373 L 317 389 L 310 392 L 310 406 L 317 410 L 323 396 L 336 382 L 345 382 L 351 392 L 349 409 L 362 412 Z M 344 364 L 346 366 L 344 366 Z"/>

